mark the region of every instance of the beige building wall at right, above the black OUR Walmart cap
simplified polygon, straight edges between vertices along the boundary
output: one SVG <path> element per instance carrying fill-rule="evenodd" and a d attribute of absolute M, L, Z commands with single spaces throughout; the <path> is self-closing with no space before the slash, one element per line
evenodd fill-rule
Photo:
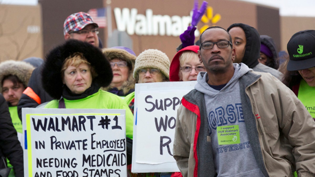
<path fill-rule="evenodd" d="M 296 32 L 314 29 L 315 17 L 280 17 L 281 50 L 287 51 L 287 44 Z"/>

